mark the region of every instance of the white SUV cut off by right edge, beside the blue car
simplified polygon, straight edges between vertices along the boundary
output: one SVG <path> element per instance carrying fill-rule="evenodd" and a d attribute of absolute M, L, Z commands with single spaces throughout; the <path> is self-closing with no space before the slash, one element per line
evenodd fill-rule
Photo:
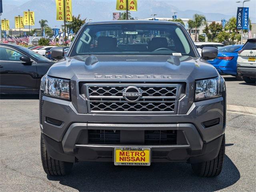
<path fill-rule="evenodd" d="M 256 38 L 248 39 L 238 51 L 237 73 L 247 83 L 256 83 Z"/>

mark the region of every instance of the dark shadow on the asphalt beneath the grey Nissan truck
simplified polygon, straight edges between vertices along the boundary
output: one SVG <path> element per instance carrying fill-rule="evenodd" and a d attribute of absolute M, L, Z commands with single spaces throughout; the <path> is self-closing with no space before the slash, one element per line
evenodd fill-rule
<path fill-rule="evenodd" d="M 216 191 L 236 183 L 240 172 L 225 155 L 216 178 L 201 178 L 187 163 L 152 163 L 150 167 L 118 167 L 114 163 L 76 163 L 68 176 L 49 180 L 79 191 Z"/>

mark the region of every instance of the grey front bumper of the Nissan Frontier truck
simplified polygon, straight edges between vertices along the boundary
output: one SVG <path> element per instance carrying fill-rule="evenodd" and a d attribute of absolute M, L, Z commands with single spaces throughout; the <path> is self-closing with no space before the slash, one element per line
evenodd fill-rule
<path fill-rule="evenodd" d="M 186 114 L 176 115 L 79 114 L 72 102 L 46 96 L 42 97 L 41 105 L 40 127 L 46 149 L 52 158 L 67 162 L 114 161 L 114 147 L 123 146 L 151 148 L 151 162 L 198 163 L 218 155 L 225 131 L 222 97 L 194 102 Z M 61 124 L 54 125 L 46 118 Z M 204 122 L 216 119 L 218 123 L 204 126 Z M 93 144 L 88 142 L 88 130 L 120 130 L 121 134 L 128 135 L 130 131 L 136 134 L 136 131 L 172 130 L 177 131 L 177 141 L 175 145 L 144 145 L 143 141 L 141 144 Z"/>

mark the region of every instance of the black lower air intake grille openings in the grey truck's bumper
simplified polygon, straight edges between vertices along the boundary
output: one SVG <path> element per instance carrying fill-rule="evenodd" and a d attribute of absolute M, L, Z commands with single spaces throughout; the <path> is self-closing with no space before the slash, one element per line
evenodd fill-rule
<path fill-rule="evenodd" d="M 136 144 L 121 143 L 120 130 L 88 130 L 89 144 Z M 139 143 L 140 145 L 142 143 Z M 144 131 L 144 145 L 177 145 L 176 130 L 146 130 Z"/>

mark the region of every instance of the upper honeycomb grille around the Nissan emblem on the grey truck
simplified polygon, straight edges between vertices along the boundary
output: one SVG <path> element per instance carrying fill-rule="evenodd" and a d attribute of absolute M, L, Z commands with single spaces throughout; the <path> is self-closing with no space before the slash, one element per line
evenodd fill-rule
<path fill-rule="evenodd" d="M 135 86 L 142 94 L 136 102 L 123 92 Z M 86 84 L 89 113 L 176 113 L 180 84 Z"/>

